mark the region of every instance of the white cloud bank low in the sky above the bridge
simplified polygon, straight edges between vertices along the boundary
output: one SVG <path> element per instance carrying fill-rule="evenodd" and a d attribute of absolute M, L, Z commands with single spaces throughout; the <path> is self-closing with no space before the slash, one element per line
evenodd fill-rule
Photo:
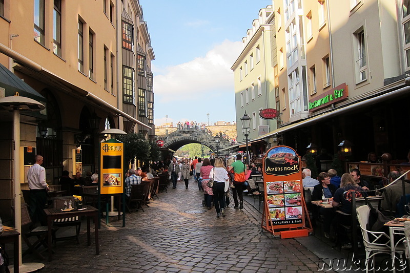
<path fill-rule="evenodd" d="M 156 67 L 156 72 L 162 72 L 154 72 L 156 106 L 178 100 L 187 101 L 198 95 L 211 100 L 221 93 L 234 92 L 231 67 L 241 50 L 241 42 L 224 40 L 204 57 L 197 57 L 165 70 Z M 206 101 L 201 101 L 203 103 Z"/>

